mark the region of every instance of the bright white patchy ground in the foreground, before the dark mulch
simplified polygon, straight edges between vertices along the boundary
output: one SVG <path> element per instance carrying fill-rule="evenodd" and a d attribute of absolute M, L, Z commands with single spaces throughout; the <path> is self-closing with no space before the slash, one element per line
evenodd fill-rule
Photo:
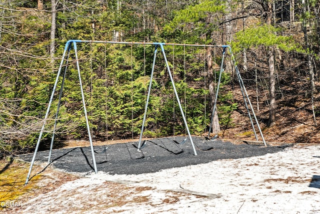
<path fill-rule="evenodd" d="M 18 211 L 320 213 L 320 145 L 138 175 L 93 173 L 29 198 Z"/>

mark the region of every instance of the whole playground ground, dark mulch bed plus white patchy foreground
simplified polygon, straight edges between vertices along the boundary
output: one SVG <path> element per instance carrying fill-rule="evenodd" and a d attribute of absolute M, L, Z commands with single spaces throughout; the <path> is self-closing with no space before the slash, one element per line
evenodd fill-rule
<path fill-rule="evenodd" d="M 264 147 L 200 140 L 193 140 L 196 156 L 189 141 L 175 145 L 172 138 L 148 141 L 142 152 L 137 152 L 132 143 L 110 145 L 105 153 L 96 154 L 96 174 L 90 166 L 89 148 L 53 150 L 51 165 L 81 176 L 59 184 L 63 177 L 46 175 L 45 185 L 52 187 L 54 183 L 56 187 L 28 198 L 22 207 L 12 211 L 320 212 L 319 144 Z M 94 149 L 102 151 L 104 147 Z M 47 154 L 48 151 L 38 152 L 36 163 L 45 165 Z M 29 154 L 22 158 L 31 157 Z"/>

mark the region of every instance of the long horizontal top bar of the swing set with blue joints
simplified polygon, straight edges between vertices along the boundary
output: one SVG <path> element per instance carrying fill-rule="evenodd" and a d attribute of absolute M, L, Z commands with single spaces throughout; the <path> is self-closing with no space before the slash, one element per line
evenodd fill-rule
<path fill-rule="evenodd" d="M 70 47 L 71 43 L 104 43 L 104 44 L 123 44 L 123 45 L 171 45 L 171 46 L 195 46 L 195 47 L 219 47 L 219 48 L 228 48 L 231 50 L 231 47 L 228 45 L 200 45 L 200 44 L 179 44 L 179 43 L 146 43 L 146 42 L 114 42 L 114 41 L 98 41 L 98 40 L 69 40 L 65 44 L 64 50 L 67 50 Z"/>

